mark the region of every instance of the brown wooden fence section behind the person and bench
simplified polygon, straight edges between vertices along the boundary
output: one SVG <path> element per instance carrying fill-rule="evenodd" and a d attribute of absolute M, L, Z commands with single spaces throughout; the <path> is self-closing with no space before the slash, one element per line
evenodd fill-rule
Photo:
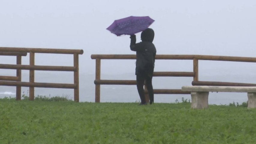
<path fill-rule="evenodd" d="M 91 55 L 96 60 L 95 102 L 100 102 L 100 85 L 136 85 L 136 80 L 103 80 L 101 79 L 101 59 L 136 59 L 136 55 Z M 252 57 L 214 56 L 214 55 L 156 55 L 156 60 L 193 60 L 193 72 L 154 72 L 153 76 L 186 76 L 193 77 L 192 85 L 218 86 L 256 86 L 256 84 L 234 82 L 199 81 L 198 60 L 256 62 Z M 146 87 L 145 87 L 146 90 Z M 146 91 L 147 93 L 147 91 Z M 190 94 L 181 89 L 154 89 L 154 94 Z M 148 101 L 148 96 L 146 95 Z"/>

